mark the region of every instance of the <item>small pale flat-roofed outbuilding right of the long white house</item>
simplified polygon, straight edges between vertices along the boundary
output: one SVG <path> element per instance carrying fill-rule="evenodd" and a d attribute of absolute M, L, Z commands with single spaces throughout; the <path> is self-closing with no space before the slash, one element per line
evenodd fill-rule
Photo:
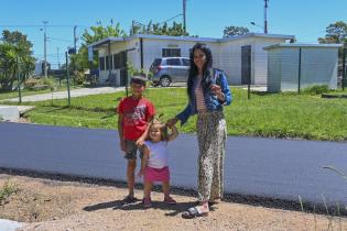
<path fill-rule="evenodd" d="M 268 51 L 268 91 L 295 91 L 313 85 L 337 88 L 341 44 L 275 44 Z"/>

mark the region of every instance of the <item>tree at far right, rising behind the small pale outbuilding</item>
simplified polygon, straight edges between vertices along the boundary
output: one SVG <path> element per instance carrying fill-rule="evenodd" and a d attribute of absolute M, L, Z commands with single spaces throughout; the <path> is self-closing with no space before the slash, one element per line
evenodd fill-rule
<path fill-rule="evenodd" d="M 325 37 L 318 37 L 319 43 L 344 43 L 347 42 L 347 23 L 343 21 L 329 24 L 326 28 Z"/>

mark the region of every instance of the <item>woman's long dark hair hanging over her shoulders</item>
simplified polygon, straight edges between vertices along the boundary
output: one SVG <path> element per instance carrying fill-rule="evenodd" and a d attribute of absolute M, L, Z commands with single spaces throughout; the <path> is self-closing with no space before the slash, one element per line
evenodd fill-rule
<path fill-rule="evenodd" d="M 212 67 L 213 67 L 213 56 L 212 56 L 212 51 L 210 48 L 204 44 L 204 43 L 196 43 L 191 52 L 191 69 L 189 69 L 189 76 L 188 76 L 188 80 L 187 80 L 187 94 L 189 99 L 192 100 L 193 98 L 193 85 L 194 85 L 194 78 L 196 78 L 198 70 L 197 70 L 197 66 L 194 63 L 194 51 L 195 50 L 200 50 L 205 53 L 206 56 L 206 63 L 205 66 L 203 67 L 203 89 L 206 92 L 207 89 L 209 89 L 210 84 L 212 84 Z"/>

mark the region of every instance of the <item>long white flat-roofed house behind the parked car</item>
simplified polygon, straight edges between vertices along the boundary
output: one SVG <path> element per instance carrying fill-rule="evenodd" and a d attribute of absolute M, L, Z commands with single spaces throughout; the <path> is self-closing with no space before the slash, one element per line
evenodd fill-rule
<path fill-rule="evenodd" d="M 214 57 L 214 67 L 225 70 L 229 84 L 265 85 L 268 55 L 263 48 L 295 40 L 294 35 L 249 33 L 225 38 L 182 37 L 135 34 L 129 37 L 108 37 L 88 46 L 89 59 L 95 51 L 99 54 L 99 81 L 122 86 L 126 63 L 137 69 L 148 70 L 155 58 L 167 56 L 189 57 L 195 43 L 207 44 Z"/>

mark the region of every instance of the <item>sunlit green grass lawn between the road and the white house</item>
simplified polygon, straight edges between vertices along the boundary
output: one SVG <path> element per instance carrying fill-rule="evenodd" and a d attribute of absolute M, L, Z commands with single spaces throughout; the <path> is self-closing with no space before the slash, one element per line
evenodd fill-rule
<path fill-rule="evenodd" d="M 164 119 L 184 109 L 185 88 L 147 89 L 145 96 Z M 97 95 L 66 100 L 25 103 L 37 106 L 28 113 L 34 123 L 116 129 L 115 107 L 123 92 Z M 307 140 L 347 141 L 347 99 L 322 99 L 308 94 L 257 94 L 247 99 L 247 91 L 232 88 L 234 101 L 225 107 L 229 135 L 295 138 Z M 195 132 L 196 117 L 178 128 Z M 180 125 L 178 125 L 180 127 Z"/>

